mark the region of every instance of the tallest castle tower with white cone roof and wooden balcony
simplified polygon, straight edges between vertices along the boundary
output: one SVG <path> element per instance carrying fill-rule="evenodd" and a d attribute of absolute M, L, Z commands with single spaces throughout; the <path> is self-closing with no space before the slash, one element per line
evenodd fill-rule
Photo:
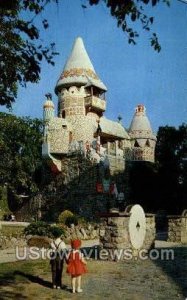
<path fill-rule="evenodd" d="M 72 124 L 74 140 L 93 139 L 94 125 L 106 109 L 106 91 L 78 37 L 55 88 L 58 117 Z"/>

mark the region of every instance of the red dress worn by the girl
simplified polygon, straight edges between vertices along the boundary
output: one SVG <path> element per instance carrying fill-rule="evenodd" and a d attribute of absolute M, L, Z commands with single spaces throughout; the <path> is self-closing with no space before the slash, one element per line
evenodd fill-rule
<path fill-rule="evenodd" d="M 81 259 L 81 255 L 81 252 L 78 250 L 72 250 L 69 255 L 67 261 L 67 273 L 71 274 L 72 276 L 79 276 L 87 272 L 85 264 Z"/>

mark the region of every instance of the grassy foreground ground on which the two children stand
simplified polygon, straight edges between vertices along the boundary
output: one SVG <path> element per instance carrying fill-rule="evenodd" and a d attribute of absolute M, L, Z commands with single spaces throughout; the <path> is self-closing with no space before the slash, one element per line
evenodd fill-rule
<path fill-rule="evenodd" d="M 62 290 L 51 288 L 47 260 L 0 265 L 0 299 L 123 299 L 184 300 L 187 248 L 175 249 L 174 261 L 110 262 L 89 260 L 83 294 L 72 294 L 70 278 L 63 272 Z"/>

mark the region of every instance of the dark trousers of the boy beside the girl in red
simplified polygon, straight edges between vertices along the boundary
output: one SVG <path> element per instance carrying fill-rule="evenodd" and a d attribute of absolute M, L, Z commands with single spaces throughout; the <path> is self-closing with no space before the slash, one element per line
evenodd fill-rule
<path fill-rule="evenodd" d="M 51 259 L 52 283 L 56 286 L 62 286 L 63 260 L 60 258 Z"/>

